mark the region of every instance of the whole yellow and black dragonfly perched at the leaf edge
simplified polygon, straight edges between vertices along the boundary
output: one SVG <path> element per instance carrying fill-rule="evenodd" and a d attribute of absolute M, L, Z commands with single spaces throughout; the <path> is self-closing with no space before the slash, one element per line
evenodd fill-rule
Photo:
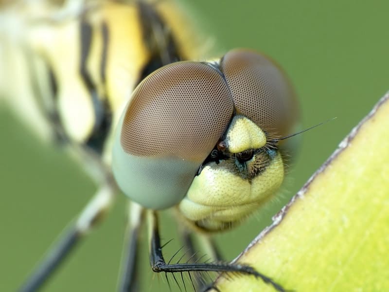
<path fill-rule="evenodd" d="M 38 291 L 120 191 L 130 199 L 130 240 L 119 291 L 138 289 L 137 238 L 146 222 L 154 272 L 186 274 L 195 290 L 217 289 L 192 278 L 213 271 L 249 274 L 284 291 L 260 271 L 222 261 L 208 236 L 241 224 L 283 182 L 292 151 L 286 138 L 298 124 L 283 70 L 249 49 L 203 60 L 187 20 L 167 0 L 19 5 L 3 8 L 2 21 L 17 32 L 3 38 L 3 63 L 23 64 L 29 94 L 12 84 L 1 92 L 38 135 L 76 157 L 98 188 L 19 291 Z M 187 262 L 162 254 L 164 209 L 188 227 Z M 197 258 L 194 236 L 205 239 L 211 262 Z"/>

